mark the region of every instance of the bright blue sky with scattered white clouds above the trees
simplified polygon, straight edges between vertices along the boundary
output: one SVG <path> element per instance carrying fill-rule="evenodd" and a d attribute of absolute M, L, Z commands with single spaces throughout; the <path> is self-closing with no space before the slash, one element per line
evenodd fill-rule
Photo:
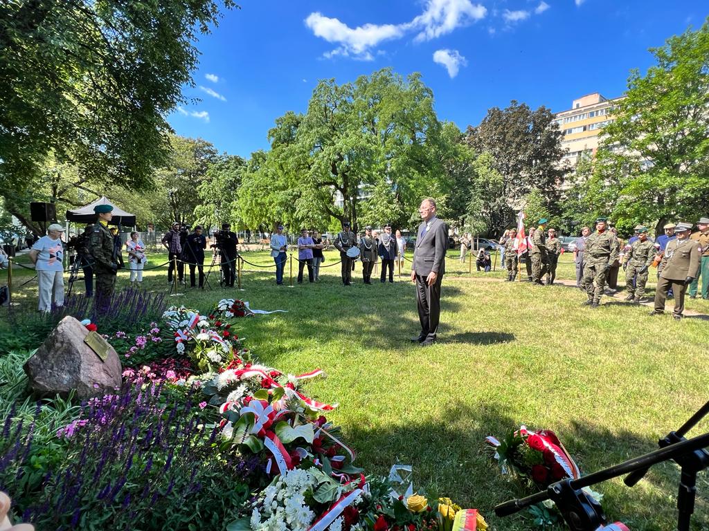
<path fill-rule="evenodd" d="M 392 67 L 423 74 L 440 120 L 462 130 L 510 100 L 554 112 L 601 92 L 620 96 L 647 49 L 708 11 L 700 1 L 238 0 L 201 38 L 196 86 L 169 122 L 248 157 L 288 110 L 304 112 L 319 79 Z"/>

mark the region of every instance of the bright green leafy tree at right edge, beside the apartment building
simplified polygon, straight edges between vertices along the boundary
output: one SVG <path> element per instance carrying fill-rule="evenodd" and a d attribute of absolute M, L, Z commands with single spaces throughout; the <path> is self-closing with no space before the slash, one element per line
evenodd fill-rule
<path fill-rule="evenodd" d="M 617 222 L 692 220 L 709 204 L 709 19 L 650 50 L 657 64 L 633 70 L 603 132 L 599 172 L 617 172 Z"/>

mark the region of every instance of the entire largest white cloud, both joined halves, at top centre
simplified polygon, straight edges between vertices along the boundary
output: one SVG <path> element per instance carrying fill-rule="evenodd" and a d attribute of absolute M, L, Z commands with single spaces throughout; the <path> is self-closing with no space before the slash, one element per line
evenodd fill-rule
<path fill-rule="evenodd" d="M 423 13 L 411 22 L 400 24 L 364 24 L 350 28 L 337 18 L 315 12 L 305 23 L 313 35 L 338 45 L 325 52 L 325 57 L 352 57 L 371 61 L 372 49 L 386 40 L 401 39 L 407 33 L 417 32 L 415 40 L 431 40 L 485 18 L 487 9 L 471 0 L 427 0 Z"/>

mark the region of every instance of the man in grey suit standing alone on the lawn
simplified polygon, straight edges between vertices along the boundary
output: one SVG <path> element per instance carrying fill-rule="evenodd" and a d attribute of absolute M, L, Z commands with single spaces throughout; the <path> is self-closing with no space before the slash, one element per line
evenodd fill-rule
<path fill-rule="evenodd" d="M 436 202 L 426 198 L 418 213 L 423 222 L 413 251 L 411 282 L 416 282 L 416 303 L 421 333 L 411 341 L 429 346 L 436 341 L 440 318 L 441 281 L 445 273 L 445 253 L 448 249 L 448 226 L 436 217 Z"/>

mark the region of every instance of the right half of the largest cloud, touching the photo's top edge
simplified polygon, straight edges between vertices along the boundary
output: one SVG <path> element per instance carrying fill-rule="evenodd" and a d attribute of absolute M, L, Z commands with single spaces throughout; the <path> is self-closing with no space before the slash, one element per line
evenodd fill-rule
<path fill-rule="evenodd" d="M 485 18 L 487 9 L 470 0 L 428 0 L 425 11 L 408 26 L 421 28 L 415 40 L 431 40 L 462 25 L 469 25 Z"/>

